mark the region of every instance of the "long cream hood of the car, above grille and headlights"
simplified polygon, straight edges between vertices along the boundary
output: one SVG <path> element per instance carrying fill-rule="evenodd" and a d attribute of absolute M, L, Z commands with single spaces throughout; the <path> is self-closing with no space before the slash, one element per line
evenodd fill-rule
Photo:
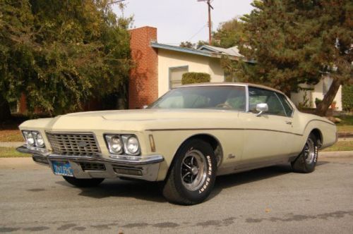
<path fill-rule="evenodd" d="M 222 114 L 221 114 L 222 113 Z M 69 113 L 55 118 L 25 121 L 23 129 L 46 131 L 122 130 L 142 131 L 171 128 L 222 128 L 239 112 L 212 109 L 138 109 Z"/>

